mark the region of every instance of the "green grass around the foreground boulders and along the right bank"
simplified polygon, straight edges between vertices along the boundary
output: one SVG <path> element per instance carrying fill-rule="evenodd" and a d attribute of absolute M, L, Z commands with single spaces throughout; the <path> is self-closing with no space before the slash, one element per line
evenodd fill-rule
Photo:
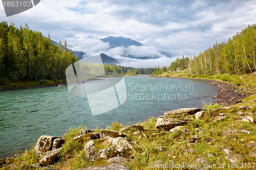
<path fill-rule="evenodd" d="M 187 72 L 181 71 L 178 73 L 165 73 L 160 76 L 215 79 L 237 86 L 245 93 L 255 93 L 256 78 L 254 75 L 250 74 L 232 76 L 211 75 L 205 77 L 189 76 Z M 256 153 L 256 147 L 250 147 L 248 143 L 252 145 L 256 144 L 256 127 L 255 124 L 252 123 L 238 122 L 237 112 L 243 111 L 246 115 L 250 115 L 251 113 L 251 116 L 256 120 L 256 94 L 252 94 L 244 99 L 242 103 L 232 106 L 244 106 L 246 109 L 239 110 L 237 107 L 233 107 L 222 111 L 222 113 L 226 113 L 227 117 L 219 122 L 214 121 L 216 115 L 209 111 L 201 119 L 191 119 L 191 122 L 184 126 L 190 131 L 189 134 L 180 131 L 170 133 L 164 130 L 156 132 L 155 117 L 145 122 L 139 122 L 138 124 L 143 126 L 144 131 L 125 132 L 128 136 L 126 139 L 130 141 L 135 148 L 132 152 L 133 159 L 131 159 L 130 163 L 127 163 L 126 166 L 130 169 L 152 169 L 153 167 L 156 169 L 196 169 L 193 168 L 193 165 L 201 164 L 201 167 L 203 167 L 203 164 L 205 164 L 208 165 L 210 169 L 255 169 L 256 164 L 253 163 L 256 163 L 256 155 L 253 156 L 251 152 L 254 150 Z M 185 108 L 185 106 L 181 106 L 181 108 L 183 107 Z M 203 108 L 210 110 L 220 107 L 223 106 L 212 103 L 204 104 L 203 106 Z M 124 125 L 113 122 L 112 126 L 107 129 L 119 131 L 123 127 Z M 52 169 L 78 169 L 88 165 L 96 166 L 106 164 L 106 160 L 96 162 L 86 160 L 85 151 L 83 149 L 86 143 L 73 140 L 74 137 L 79 135 L 81 129 L 86 129 L 86 127 L 70 128 L 69 131 L 63 135 L 65 144 L 62 146 L 63 150 L 60 154 L 60 160 L 51 166 Z M 237 130 L 238 133 L 225 134 L 223 131 L 226 130 Z M 244 130 L 251 133 L 244 133 Z M 95 129 L 94 131 L 98 132 L 99 129 Z M 154 133 L 158 133 L 158 135 L 152 135 Z M 199 137 L 200 140 L 195 143 L 190 142 L 190 139 L 195 136 Z M 209 139 L 212 139 L 212 141 L 209 142 Z M 87 141 L 89 140 L 91 139 L 88 138 Z M 196 149 L 197 152 L 183 153 L 186 149 Z M 226 158 L 226 151 L 243 155 L 244 157 L 240 160 L 239 164 L 232 164 Z M 201 159 L 203 161 L 200 162 L 198 158 L 205 159 Z M 36 162 L 38 162 L 38 157 L 33 154 L 32 148 L 30 151 L 26 151 L 24 154 L 14 159 L 7 159 L 7 164 L 1 169 L 10 169 L 10 164 L 12 163 L 15 165 L 13 169 L 33 169 L 30 168 L 30 165 Z M 183 168 L 180 168 L 180 166 L 178 168 L 172 168 L 172 165 L 184 163 L 186 166 Z M 161 165 L 166 166 L 162 166 L 161 168 Z M 220 165 L 225 165 L 225 168 Z M 254 168 L 252 168 L 253 166 Z"/>

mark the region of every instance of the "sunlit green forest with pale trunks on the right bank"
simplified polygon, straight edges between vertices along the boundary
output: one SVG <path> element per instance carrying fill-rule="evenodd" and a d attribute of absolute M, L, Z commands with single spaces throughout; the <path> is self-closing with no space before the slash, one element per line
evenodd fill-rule
<path fill-rule="evenodd" d="M 177 58 L 168 69 L 188 68 L 190 74 L 243 74 L 256 70 L 256 25 L 249 25 L 227 42 L 216 42 L 198 56 Z"/>

